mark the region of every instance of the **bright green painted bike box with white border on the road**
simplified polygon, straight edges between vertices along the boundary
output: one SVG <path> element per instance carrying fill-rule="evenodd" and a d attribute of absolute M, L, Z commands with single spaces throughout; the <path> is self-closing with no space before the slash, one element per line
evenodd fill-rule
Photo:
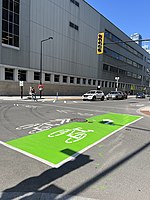
<path fill-rule="evenodd" d="M 3 142 L 3 145 L 59 167 L 139 119 L 135 115 L 108 113 Z"/>

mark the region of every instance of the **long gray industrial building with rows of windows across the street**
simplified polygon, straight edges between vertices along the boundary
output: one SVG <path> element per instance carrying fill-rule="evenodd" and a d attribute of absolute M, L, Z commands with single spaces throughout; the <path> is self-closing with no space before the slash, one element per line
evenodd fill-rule
<path fill-rule="evenodd" d="M 125 43 L 131 39 L 86 1 L 1 0 L 0 13 L 0 95 L 19 95 L 20 81 L 24 95 L 38 90 L 40 72 L 43 95 L 81 95 L 98 85 L 108 92 L 115 77 L 120 90 L 149 90 L 150 54 Z"/>

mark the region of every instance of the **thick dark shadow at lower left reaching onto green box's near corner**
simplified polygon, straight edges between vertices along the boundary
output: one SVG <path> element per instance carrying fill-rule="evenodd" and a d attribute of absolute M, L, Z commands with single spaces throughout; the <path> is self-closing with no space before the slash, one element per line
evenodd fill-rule
<path fill-rule="evenodd" d="M 68 155 L 77 153 L 71 149 L 64 149 L 62 152 Z M 26 180 L 23 180 L 16 186 L 6 189 L 2 193 L 1 199 L 40 199 L 39 196 L 41 196 L 43 193 L 52 194 L 51 199 L 55 199 L 56 196 L 62 194 L 64 190 L 58 188 L 53 183 L 50 183 L 92 161 L 93 160 L 91 160 L 89 156 L 80 154 L 76 159 L 69 161 L 60 168 L 51 168 L 39 176 L 30 177 Z"/>

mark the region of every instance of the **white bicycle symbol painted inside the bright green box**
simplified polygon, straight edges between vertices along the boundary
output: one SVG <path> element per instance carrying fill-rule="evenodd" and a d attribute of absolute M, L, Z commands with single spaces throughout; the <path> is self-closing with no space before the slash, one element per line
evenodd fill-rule
<path fill-rule="evenodd" d="M 68 139 L 66 139 L 66 143 L 73 143 L 73 142 L 78 142 L 85 138 L 87 136 L 87 133 L 94 132 L 93 130 L 83 130 L 81 127 L 73 128 L 73 129 L 62 129 L 55 131 L 53 133 L 50 133 L 48 137 L 58 137 L 61 135 L 64 135 L 66 133 L 66 136 Z"/>

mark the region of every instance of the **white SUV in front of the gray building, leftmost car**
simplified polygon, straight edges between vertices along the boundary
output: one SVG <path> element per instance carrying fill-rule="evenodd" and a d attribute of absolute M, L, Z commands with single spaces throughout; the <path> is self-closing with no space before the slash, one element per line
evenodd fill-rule
<path fill-rule="evenodd" d="M 86 101 L 86 100 L 95 101 L 97 99 L 104 101 L 105 95 L 104 95 L 103 91 L 101 91 L 101 90 L 90 90 L 87 93 L 82 95 L 83 101 Z"/>

